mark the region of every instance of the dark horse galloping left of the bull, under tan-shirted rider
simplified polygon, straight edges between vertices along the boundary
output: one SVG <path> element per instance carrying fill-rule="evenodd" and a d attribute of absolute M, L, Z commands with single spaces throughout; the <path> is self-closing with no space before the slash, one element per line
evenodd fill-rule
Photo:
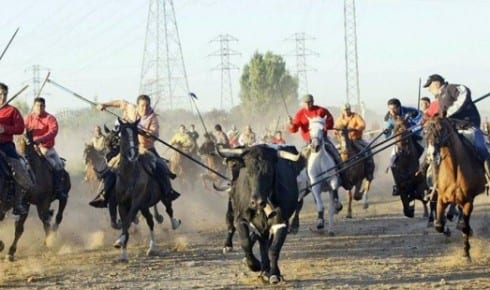
<path fill-rule="evenodd" d="M 168 198 L 162 194 L 160 185 L 150 174 L 146 163 L 156 162 L 156 156 L 138 152 L 138 121 L 124 122 L 119 120 L 120 162 L 118 176 L 115 185 L 115 197 L 119 207 L 119 215 L 122 221 L 122 233 L 114 243 L 114 247 L 121 248 L 119 261 L 126 262 L 127 243 L 129 240 L 129 227 L 140 211 L 145 217 L 150 228 L 150 245 L 147 255 L 155 253 L 155 236 L 153 232 L 154 222 L 149 208 L 159 201 L 165 202 Z"/>

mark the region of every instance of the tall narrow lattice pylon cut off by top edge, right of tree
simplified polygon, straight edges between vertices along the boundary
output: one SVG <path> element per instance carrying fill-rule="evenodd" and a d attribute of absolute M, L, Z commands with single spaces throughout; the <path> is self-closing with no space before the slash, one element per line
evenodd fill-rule
<path fill-rule="evenodd" d="M 346 102 L 355 101 L 356 109 L 364 115 L 359 90 L 359 66 L 357 62 L 357 32 L 355 0 L 344 0 L 344 39 L 345 39 L 345 87 Z"/>

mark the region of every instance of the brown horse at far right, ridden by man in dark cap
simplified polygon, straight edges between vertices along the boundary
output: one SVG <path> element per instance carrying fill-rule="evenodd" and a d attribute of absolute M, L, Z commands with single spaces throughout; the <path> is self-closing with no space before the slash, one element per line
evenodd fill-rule
<path fill-rule="evenodd" d="M 463 210 L 461 231 L 464 239 L 464 256 L 471 261 L 469 238 L 472 234 L 470 216 L 475 197 L 485 191 L 485 171 L 470 145 L 466 144 L 448 118 L 435 118 L 424 125 L 427 155 L 435 169 L 437 210 L 435 228 L 449 236 L 444 212 L 449 204 Z"/>

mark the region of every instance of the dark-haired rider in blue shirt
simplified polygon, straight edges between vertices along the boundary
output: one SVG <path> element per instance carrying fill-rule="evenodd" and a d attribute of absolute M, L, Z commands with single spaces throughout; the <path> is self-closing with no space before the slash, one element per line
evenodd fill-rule
<path fill-rule="evenodd" d="M 386 113 L 384 118 L 385 129 L 383 131 L 386 138 L 389 138 L 392 135 L 393 129 L 395 128 L 396 118 L 405 118 L 407 120 L 408 125 L 410 126 L 411 131 L 413 132 L 412 139 L 417 149 L 417 153 L 418 153 L 417 156 L 420 158 L 420 156 L 424 152 L 424 146 L 420 143 L 422 141 L 422 136 L 421 136 L 422 130 L 419 125 L 422 120 L 422 115 L 415 108 L 402 106 L 400 100 L 398 100 L 397 98 L 392 98 L 388 100 L 388 112 Z M 396 147 L 395 147 L 391 152 L 390 167 L 394 165 L 396 156 L 397 155 L 396 155 Z M 400 195 L 396 185 L 393 185 L 392 194 L 395 196 Z"/>

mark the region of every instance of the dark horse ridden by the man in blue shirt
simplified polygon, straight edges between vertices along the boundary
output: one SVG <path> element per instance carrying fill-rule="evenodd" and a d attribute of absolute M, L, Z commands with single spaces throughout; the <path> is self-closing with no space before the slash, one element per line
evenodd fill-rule
<path fill-rule="evenodd" d="M 416 174 L 419 170 L 419 152 L 412 138 L 413 134 L 408 130 L 408 122 L 404 118 L 395 120 L 393 130 L 397 135 L 395 144 L 395 161 L 391 166 L 391 173 L 395 180 L 395 186 L 400 193 L 403 205 L 403 214 L 407 217 L 415 215 L 415 200 L 420 200 L 424 206 L 424 217 L 429 216 L 427 200 L 424 198 L 428 190 L 427 182 L 423 174 Z"/>

